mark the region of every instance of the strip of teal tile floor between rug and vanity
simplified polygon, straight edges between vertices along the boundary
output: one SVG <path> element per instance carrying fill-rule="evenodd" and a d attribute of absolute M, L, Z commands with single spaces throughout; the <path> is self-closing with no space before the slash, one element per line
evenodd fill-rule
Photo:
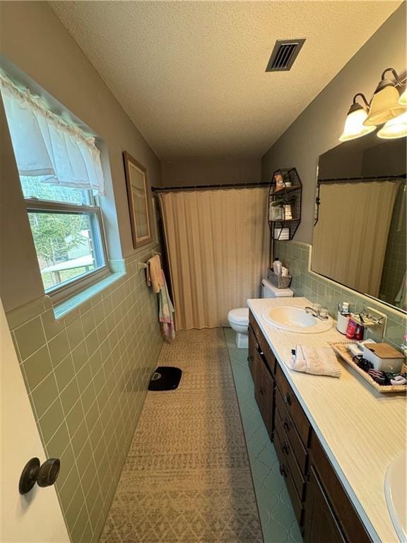
<path fill-rule="evenodd" d="M 252 467 L 264 543 L 300 543 L 302 537 L 290 504 L 273 444 L 254 399 L 254 385 L 247 365 L 247 350 L 237 349 L 235 332 L 224 328 L 237 399 Z"/>

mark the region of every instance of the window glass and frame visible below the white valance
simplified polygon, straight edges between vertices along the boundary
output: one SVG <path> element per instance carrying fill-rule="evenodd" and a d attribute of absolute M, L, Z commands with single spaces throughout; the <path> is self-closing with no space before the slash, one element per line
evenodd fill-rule
<path fill-rule="evenodd" d="M 98 197 L 93 191 L 20 177 L 47 293 L 105 267 Z"/>

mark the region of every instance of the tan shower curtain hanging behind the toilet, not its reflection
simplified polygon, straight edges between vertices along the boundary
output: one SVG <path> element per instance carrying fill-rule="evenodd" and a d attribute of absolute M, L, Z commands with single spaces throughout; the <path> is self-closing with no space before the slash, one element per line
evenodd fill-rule
<path fill-rule="evenodd" d="M 177 329 L 228 325 L 269 264 L 267 189 L 160 194 Z"/>

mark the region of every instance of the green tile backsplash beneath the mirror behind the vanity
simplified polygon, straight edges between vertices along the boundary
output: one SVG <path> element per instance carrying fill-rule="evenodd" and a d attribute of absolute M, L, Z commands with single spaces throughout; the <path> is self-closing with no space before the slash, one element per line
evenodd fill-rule
<path fill-rule="evenodd" d="M 401 345 L 407 328 L 405 314 L 314 274 L 309 270 L 311 245 L 296 241 L 275 241 L 274 244 L 274 255 L 290 269 L 290 275 L 293 276 L 290 288 L 293 289 L 295 296 L 305 296 L 314 303 L 322 304 L 335 319 L 338 314 L 336 305 L 338 301 L 350 302 L 352 310 L 356 312 L 369 305 L 370 308 L 387 315 L 384 340 L 395 347 Z"/>

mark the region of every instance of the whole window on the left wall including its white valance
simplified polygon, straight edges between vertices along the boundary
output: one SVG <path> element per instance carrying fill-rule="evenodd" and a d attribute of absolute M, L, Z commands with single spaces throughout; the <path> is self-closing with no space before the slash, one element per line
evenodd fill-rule
<path fill-rule="evenodd" d="M 59 300 L 108 273 L 99 151 L 4 74 L 0 90 L 42 282 Z"/>

